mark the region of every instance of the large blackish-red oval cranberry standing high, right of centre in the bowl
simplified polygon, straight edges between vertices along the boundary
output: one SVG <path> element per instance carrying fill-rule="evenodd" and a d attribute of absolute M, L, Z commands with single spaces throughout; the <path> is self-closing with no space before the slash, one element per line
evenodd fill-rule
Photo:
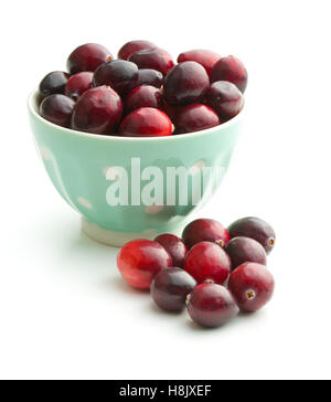
<path fill-rule="evenodd" d="M 163 95 L 170 105 L 188 105 L 197 103 L 209 86 L 210 78 L 203 66 L 195 62 L 184 62 L 167 75 Z"/>

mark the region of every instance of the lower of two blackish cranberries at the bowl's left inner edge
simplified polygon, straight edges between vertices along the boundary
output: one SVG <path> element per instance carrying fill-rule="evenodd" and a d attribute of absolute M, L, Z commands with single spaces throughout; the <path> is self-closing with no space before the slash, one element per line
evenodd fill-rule
<path fill-rule="evenodd" d="M 40 105 L 40 115 L 62 127 L 70 127 L 75 103 L 65 95 L 50 95 Z"/>

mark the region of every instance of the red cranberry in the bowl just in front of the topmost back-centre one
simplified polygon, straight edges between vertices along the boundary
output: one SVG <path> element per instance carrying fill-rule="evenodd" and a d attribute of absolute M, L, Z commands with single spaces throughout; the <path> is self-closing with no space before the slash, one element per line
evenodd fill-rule
<path fill-rule="evenodd" d="M 159 47 L 138 51 L 132 53 L 128 60 L 136 63 L 139 68 L 157 70 L 164 76 L 174 66 L 172 56 Z"/>

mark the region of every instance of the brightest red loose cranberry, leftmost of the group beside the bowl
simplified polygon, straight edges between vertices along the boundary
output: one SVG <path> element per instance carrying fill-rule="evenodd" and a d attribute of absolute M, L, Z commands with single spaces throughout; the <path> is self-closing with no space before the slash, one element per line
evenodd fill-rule
<path fill-rule="evenodd" d="M 120 248 L 117 266 L 129 285 L 139 289 L 149 289 L 156 274 L 172 266 L 172 261 L 159 243 L 138 239 Z"/>

